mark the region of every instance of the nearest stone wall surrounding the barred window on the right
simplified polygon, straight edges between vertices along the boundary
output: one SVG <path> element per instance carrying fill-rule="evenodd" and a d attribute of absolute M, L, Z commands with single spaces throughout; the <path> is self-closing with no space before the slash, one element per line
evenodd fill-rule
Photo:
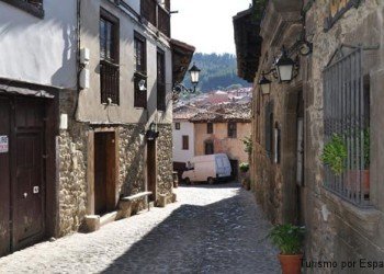
<path fill-rule="evenodd" d="M 376 195 L 383 195 L 382 189 L 376 186 L 374 178 L 381 178 L 382 170 L 375 168 L 374 161 L 377 149 L 371 153 L 371 198 L 373 206 L 361 209 L 323 187 L 324 173 L 320 155 L 324 147 L 324 118 L 323 118 L 323 69 L 341 44 L 372 46 L 381 44 L 380 50 L 364 52 L 364 75 L 371 79 L 371 113 L 381 100 L 380 92 L 383 82 L 375 83 L 372 76 L 383 68 L 383 2 L 361 1 L 358 9 L 347 11 L 341 19 L 328 31 L 324 31 L 324 21 L 329 15 L 330 0 L 316 1 L 306 15 L 307 36 L 314 43 L 314 53 L 310 57 L 309 77 L 305 82 L 306 106 L 306 161 L 305 183 L 308 191 L 305 206 L 308 214 L 305 216 L 307 226 L 307 260 L 342 260 L 371 261 L 384 258 L 384 222 L 383 207 Z M 372 87 L 377 87 L 376 91 Z M 375 96 L 377 94 L 377 96 Z M 382 104 L 381 104 L 382 105 Z M 377 106 L 380 107 L 380 106 Z M 382 114 L 382 113 L 381 113 Z M 371 115 L 372 116 L 372 115 Z M 372 116 L 371 118 L 373 118 Z M 376 124 L 371 123 L 371 139 L 383 141 Z M 376 146 L 371 144 L 371 146 Z M 382 150 L 381 150 L 382 151 Z M 377 152 L 380 153 L 380 152 Z M 381 156 L 382 157 L 382 156 Z M 377 161 L 380 157 L 377 157 Z M 375 174 L 381 174 L 376 176 Z M 377 190 L 374 192 L 373 190 Z M 381 192 L 380 192 L 381 190 Z M 315 271 L 317 273 L 319 270 Z M 336 270 L 324 270 L 321 273 L 331 273 Z M 383 271 L 383 269 L 381 269 Z M 354 267 L 348 273 L 375 273 L 372 269 Z"/>

